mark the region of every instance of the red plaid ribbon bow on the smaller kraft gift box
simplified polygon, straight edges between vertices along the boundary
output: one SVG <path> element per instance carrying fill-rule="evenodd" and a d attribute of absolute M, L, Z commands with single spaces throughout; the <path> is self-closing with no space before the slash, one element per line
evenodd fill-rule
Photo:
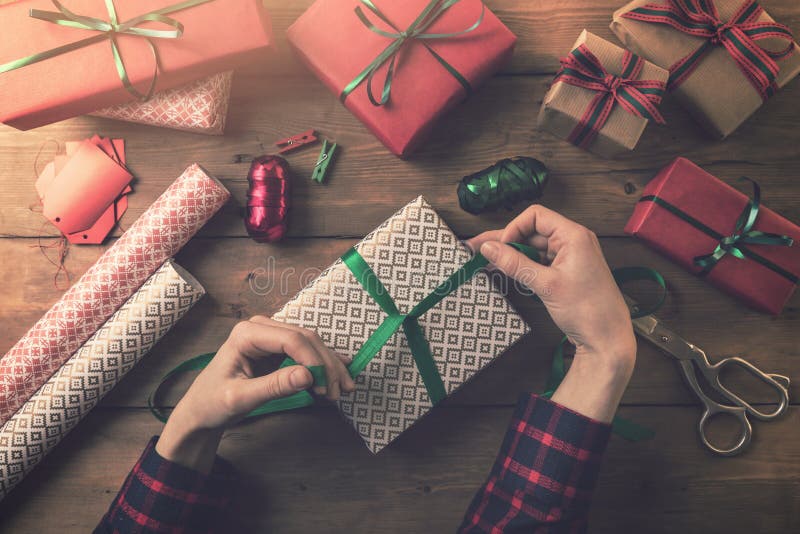
<path fill-rule="evenodd" d="M 643 66 L 642 58 L 626 50 L 622 58 L 622 74 L 614 76 L 606 71 L 586 45 L 580 45 L 561 59 L 561 69 L 553 83 L 564 82 L 597 92 L 583 118 L 567 138 L 570 143 L 581 148 L 590 146 L 615 104 L 638 117 L 664 124 L 658 105 L 661 104 L 666 85 L 658 80 L 637 80 Z"/>

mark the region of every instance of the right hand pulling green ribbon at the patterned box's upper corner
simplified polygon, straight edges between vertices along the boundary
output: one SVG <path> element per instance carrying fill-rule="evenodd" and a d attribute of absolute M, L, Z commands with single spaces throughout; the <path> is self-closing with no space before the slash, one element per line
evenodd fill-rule
<path fill-rule="evenodd" d="M 542 263 L 503 244 L 509 242 L 538 249 Z M 583 398 L 579 404 L 589 406 L 570 406 L 562 402 L 559 392 L 553 400 L 590 417 L 610 420 L 633 372 L 636 338 L 597 236 L 552 210 L 533 205 L 503 230 L 485 232 L 467 244 L 536 293 L 575 344 L 575 359 L 562 386 L 579 386 L 575 387 Z M 593 396 L 590 390 L 597 394 Z"/>

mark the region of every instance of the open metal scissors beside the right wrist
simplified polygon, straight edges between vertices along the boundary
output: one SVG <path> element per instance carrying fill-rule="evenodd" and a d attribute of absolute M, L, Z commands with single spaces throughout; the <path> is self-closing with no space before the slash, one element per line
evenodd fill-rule
<path fill-rule="evenodd" d="M 719 454 L 720 456 L 735 456 L 741 453 L 750 444 L 750 439 L 753 436 L 753 427 L 750 424 L 748 415 L 761 421 L 771 421 L 780 417 L 786 411 L 786 408 L 789 406 L 788 377 L 765 373 L 747 360 L 739 357 L 724 358 L 712 364 L 702 349 L 675 334 L 672 330 L 664 326 L 657 317 L 653 315 L 637 317 L 637 315 L 640 314 L 639 305 L 628 296 L 625 296 L 625 300 L 628 303 L 628 308 L 631 310 L 633 327 L 636 332 L 678 361 L 678 365 L 680 365 L 683 371 L 686 382 L 703 404 L 704 411 L 703 415 L 700 417 L 698 430 L 700 432 L 700 439 L 711 452 Z M 775 389 L 779 397 L 777 408 L 771 412 L 762 412 L 726 388 L 720 382 L 719 375 L 722 369 L 732 366 L 744 369 Z M 708 384 L 730 404 L 720 404 L 706 395 L 698 382 L 698 371 L 706 379 Z M 717 447 L 709 441 L 706 435 L 708 422 L 718 414 L 731 415 L 738 419 L 741 424 L 739 439 L 737 443 L 730 448 Z"/>

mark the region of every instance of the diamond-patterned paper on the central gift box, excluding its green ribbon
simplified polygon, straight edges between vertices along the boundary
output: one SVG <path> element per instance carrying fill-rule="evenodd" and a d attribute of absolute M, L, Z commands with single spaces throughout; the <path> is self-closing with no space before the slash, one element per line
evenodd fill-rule
<path fill-rule="evenodd" d="M 472 257 L 423 197 L 410 202 L 355 249 L 401 313 Z M 387 315 L 341 259 L 273 317 L 316 331 L 340 354 L 353 356 Z M 478 273 L 419 319 L 447 394 L 453 393 L 529 330 Z M 403 329 L 355 378 L 338 402 L 369 450 L 378 452 L 432 408 Z"/>

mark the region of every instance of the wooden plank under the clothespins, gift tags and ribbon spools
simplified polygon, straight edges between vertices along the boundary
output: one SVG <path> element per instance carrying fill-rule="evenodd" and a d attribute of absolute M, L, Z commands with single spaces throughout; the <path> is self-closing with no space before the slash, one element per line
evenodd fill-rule
<path fill-rule="evenodd" d="M 597 158 L 536 129 L 536 116 L 549 77 L 494 78 L 474 98 L 442 120 L 425 150 L 410 161 L 391 154 L 309 76 L 271 80 L 264 73 L 237 77 L 227 134 L 208 137 L 98 118 L 77 118 L 32 132 L 0 126 L 0 235 L 57 235 L 42 217 L 34 182 L 39 166 L 55 153 L 49 139 L 79 139 L 101 132 L 127 141 L 137 177 L 122 227 L 132 222 L 191 162 L 204 164 L 233 193 L 203 231 L 204 235 L 246 235 L 241 219 L 246 175 L 254 155 L 274 152 L 272 143 L 315 127 L 343 147 L 329 184 L 309 179 L 318 149 L 289 156 L 295 190 L 290 213 L 293 236 L 362 236 L 419 194 L 460 235 L 504 225 L 516 212 L 475 217 L 458 206 L 459 179 L 497 159 L 527 154 L 542 159 L 552 179 L 542 199 L 553 209 L 600 235 L 622 235 L 642 187 L 678 155 L 689 157 L 747 193 L 736 181 L 742 174 L 758 179 L 764 203 L 793 220 L 800 219 L 800 192 L 793 170 L 800 153 L 790 132 L 797 122 L 794 102 L 800 84 L 792 84 L 769 102 L 725 143 L 709 140 L 677 108 L 666 106 L 668 127 L 647 129 L 639 148 L 614 161 Z M 498 106 L 497 102 L 503 102 Z M 164 150 L 164 147 L 170 150 Z M 364 202 L 364 199 L 370 202 Z M 119 232 L 117 232 L 117 235 Z"/>

